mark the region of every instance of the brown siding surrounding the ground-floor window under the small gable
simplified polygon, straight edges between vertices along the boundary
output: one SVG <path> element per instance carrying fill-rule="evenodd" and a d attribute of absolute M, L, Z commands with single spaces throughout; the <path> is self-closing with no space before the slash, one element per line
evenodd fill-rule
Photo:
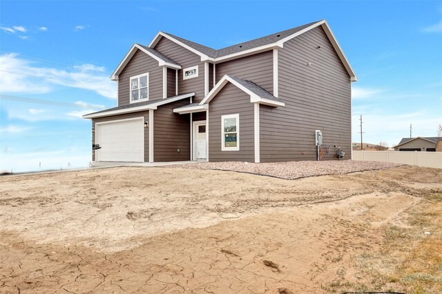
<path fill-rule="evenodd" d="M 209 103 L 209 161 L 254 162 L 253 104 L 250 95 L 227 83 Z M 240 150 L 221 150 L 221 116 L 240 115 Z"/>

